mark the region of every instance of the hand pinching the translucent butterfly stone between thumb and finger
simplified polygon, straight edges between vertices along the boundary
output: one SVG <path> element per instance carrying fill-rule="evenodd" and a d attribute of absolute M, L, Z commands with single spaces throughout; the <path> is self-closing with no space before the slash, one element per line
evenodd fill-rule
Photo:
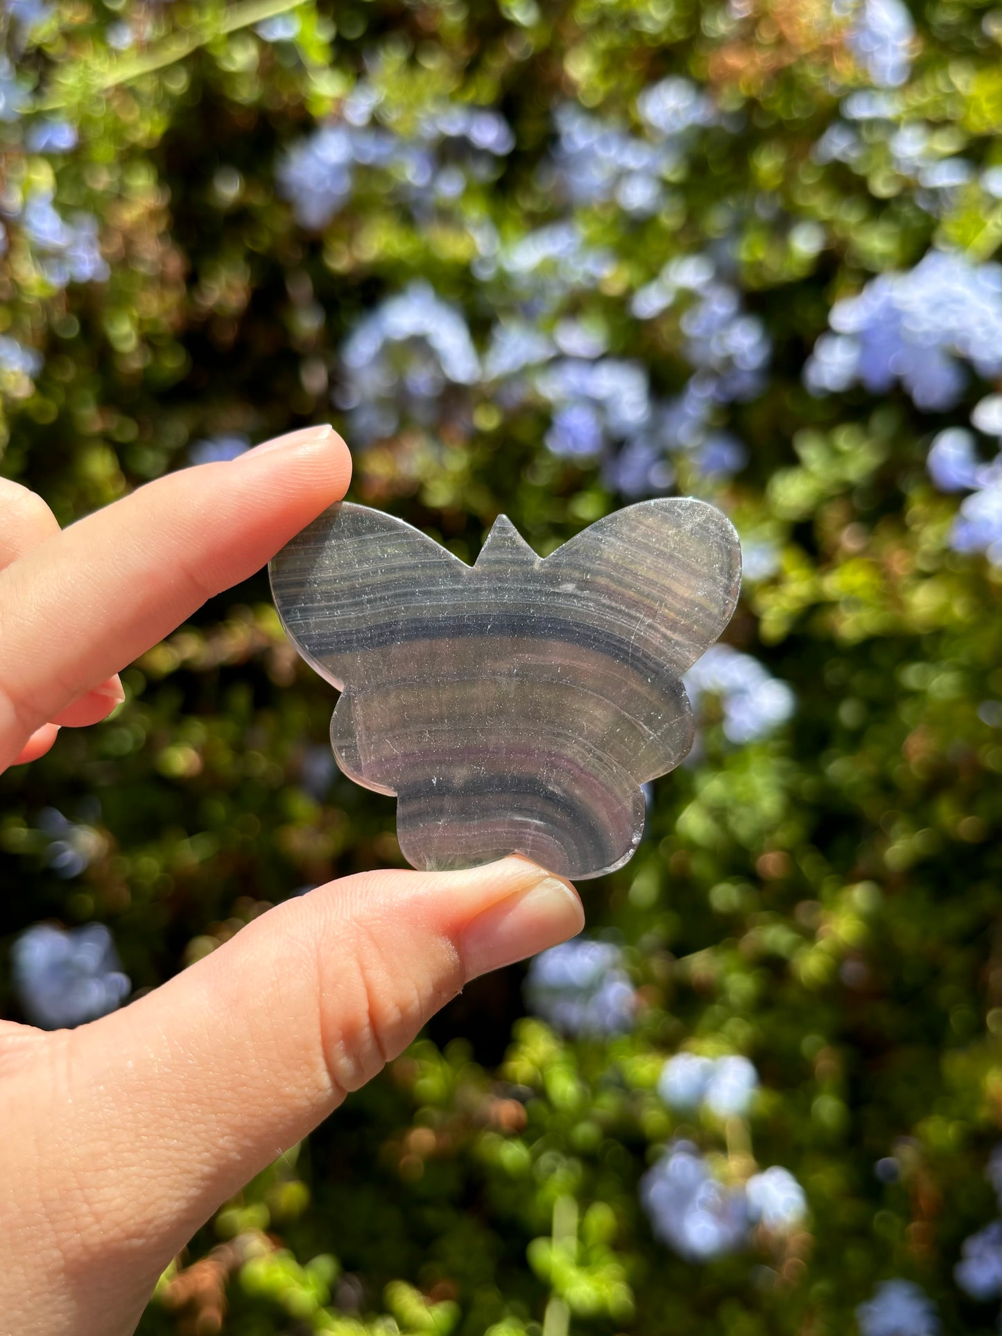
<path fill-rule="evenodd" d="M 65 532 L 0 480 L 0 770 L 103 719 L 115 673 L 347 486 L 329 429 L 172 473 Z M 468 979 L 577 933 L 574 891 L 509 858 L 349 876 L 277 906 L 131 1006 L 0 1021 L 0 1333 L 119 1336 L 255 1173 Z"/>

